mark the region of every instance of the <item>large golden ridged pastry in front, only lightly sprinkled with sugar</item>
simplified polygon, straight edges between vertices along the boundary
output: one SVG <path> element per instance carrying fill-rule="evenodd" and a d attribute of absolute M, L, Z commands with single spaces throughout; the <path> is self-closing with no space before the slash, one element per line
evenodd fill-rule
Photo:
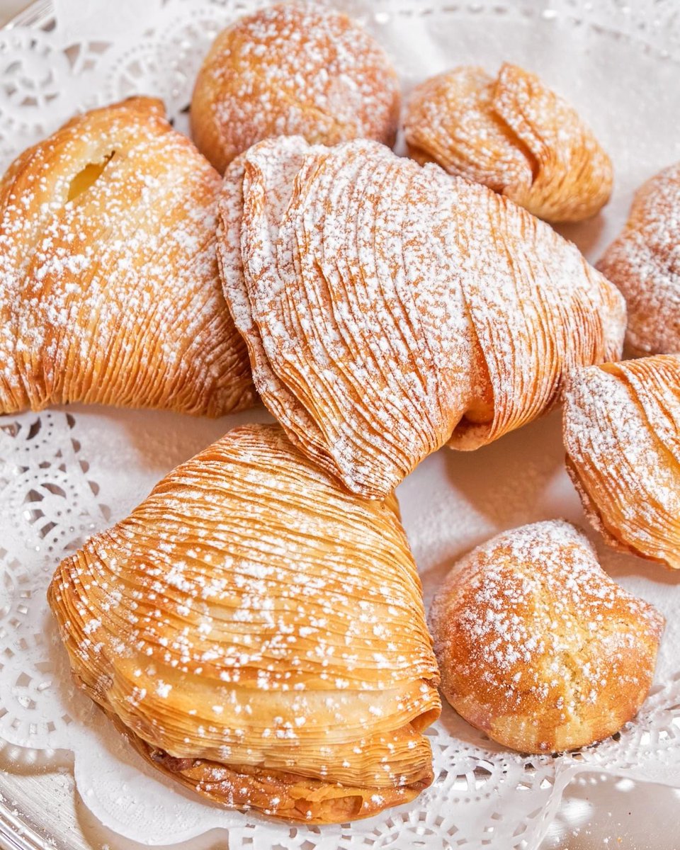
<path fill-rule="evenodd" d="M 177 467 L 48 597 L 77 682 L 215 802 L 343 822 L 433 779 L 439 673 L 397 501 L 349 495 L 278 426 Z"/>

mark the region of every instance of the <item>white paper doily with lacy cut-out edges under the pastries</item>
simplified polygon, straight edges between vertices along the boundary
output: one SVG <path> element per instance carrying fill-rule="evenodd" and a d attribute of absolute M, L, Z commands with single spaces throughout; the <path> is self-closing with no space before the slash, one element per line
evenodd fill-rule
<path fill-rule="evenodd" d="M 190 88 L 214 34 L 262 3 L 59 0 L 50 31 L 0 32 L 2 165 L 74 111 L 127 94 L 160 95 L 185 126 Z M 405 88 L 451 65 L 508 59 L 541 74 L 579 108 L 615 163 L 604 215 L 564 232 L 590 258 L 626 217 L 632 190 L 680 159 L 676 0 L 597 4 L 337 3 L 393 55 Z M 593 6 L 595 8 L 593 8 Z M 618 581 L 668 618 L 657 685 L 620 740 L 570 756 L 522 758 L 445 710 L 430 730 L 435 782 L 416 802 L 337 827 L 277 825 L 201 802 L 161 779 L 71 686 L 44 591 L 55 564 L 122 518 L 156 480 L 236 422 L 74 407 L 0 417 L 0 737 L 74 753 L 77 788 L 112 830 L 167 844 L 229 830 L 229 850 L 350 847 L 534 848 L 575 774 L 597 769 L 680 787 L 680 575 L 604 551 Z M 563 468 L 559 417 L 472 454 L 442 450 L 399 487 L 426 600 L 453 558 L 496 533 L 565 516 L 585 524 Z"/>

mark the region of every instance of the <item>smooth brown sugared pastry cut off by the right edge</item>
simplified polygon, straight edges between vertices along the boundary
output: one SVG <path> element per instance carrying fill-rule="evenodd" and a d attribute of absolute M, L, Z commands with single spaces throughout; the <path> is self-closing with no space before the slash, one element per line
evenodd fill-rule
<path fill-rule="evenodd" d="M 680 162 L 638 190 L 598 269 L 626 298 L 628 346 L 637 354 L 680 352 Z"/>

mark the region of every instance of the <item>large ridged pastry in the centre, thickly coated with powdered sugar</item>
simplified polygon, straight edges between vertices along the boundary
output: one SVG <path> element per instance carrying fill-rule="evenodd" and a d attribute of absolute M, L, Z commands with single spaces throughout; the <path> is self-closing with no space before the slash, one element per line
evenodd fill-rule
<path fill-rule="evenodd" d="M 349 490 L 382 497 L 621 353 L 621 294 L 501 195 L 388 148 L 268 139 L 224 178 L 218 258 L 258 392 Z"/>

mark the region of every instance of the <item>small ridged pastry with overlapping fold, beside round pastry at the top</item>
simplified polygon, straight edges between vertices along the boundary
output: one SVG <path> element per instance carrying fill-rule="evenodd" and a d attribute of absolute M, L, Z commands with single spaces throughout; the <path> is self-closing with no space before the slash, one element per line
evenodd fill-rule
<path fill-rule="evenodd" d="M 463 66 L 416 87 L 410 156 L 483 183 L 547 221 L 581 221 L 609 201 L 612 167 L 578 113 L 536 74 Z"/>

